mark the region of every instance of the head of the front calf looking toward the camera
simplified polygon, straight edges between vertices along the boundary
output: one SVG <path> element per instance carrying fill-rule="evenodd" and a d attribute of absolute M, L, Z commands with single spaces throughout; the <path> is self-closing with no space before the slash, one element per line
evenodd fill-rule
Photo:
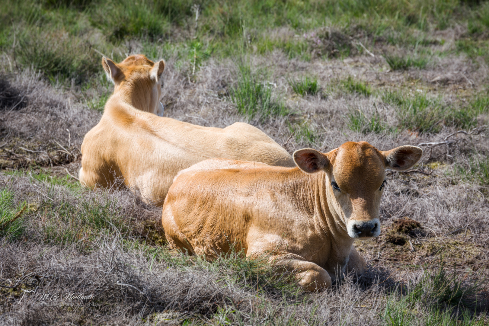
<path fill-rule="evenodd" d="M 406 170 L 421 158 L 422 149 L 400 146 L 378 151 L 367 142 L 347 142 L 331 152 L 302 149 L 293 154 L 303 172 L 326 172 L 326 197 L 330 211 L 351 238 L 380 234 L 380 197 L 385 169 Z"/>

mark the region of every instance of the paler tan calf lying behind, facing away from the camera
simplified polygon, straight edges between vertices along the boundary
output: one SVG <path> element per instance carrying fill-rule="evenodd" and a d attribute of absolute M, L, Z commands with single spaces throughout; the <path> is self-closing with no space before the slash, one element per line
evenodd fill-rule
<path fill-rule="evenodd" d="M 234 123 L 207 128 L 156 115 L 161 107 L 163 60 L 133 55 L 102 64 L 114 93 L 82 144 L 80 182 L 90 188 L 122 182 L 162 205 L 173 178 L 204 159 L 224 157 L 294 166 L 290 154 L 259 129 Z"/>

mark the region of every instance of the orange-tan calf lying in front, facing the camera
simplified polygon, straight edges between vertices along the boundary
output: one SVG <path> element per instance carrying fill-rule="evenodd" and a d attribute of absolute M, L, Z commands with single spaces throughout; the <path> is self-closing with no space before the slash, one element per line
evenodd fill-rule
<path fill-rule="evenodd" d="M 246 257 L 295 273 L 311 291 L 335 275 L 361 272 L 354 239 L 380 234 L 379 205 L 385 168 L 404 170 L 422 150 L 381 152 L 348 142 L 328 153 L 294 152 L 295 168 L 209 159 L 178 173 L 163 205 L 170 246 L 213 260 L 231 243 Z"/>

